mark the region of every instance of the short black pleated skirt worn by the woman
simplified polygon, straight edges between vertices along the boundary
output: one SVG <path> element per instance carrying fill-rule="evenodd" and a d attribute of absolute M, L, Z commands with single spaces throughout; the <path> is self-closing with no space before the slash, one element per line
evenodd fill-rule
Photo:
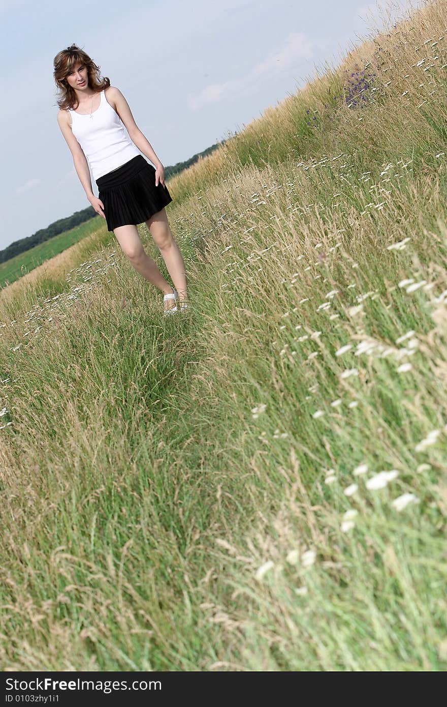
<path fill-rule="evenodd" d="M 155 167 L 143 155 L 102 175 L 96 184 L 110 231 L 129 223 L 143 223 L 172 201 L 166 186 L 160 181 L 155 186 Z"/>

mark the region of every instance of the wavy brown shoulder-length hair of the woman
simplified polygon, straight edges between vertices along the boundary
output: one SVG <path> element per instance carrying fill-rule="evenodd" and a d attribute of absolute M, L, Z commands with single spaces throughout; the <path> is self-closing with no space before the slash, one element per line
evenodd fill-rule
<path fill-rule="evenodd" d="M 110 86 L 109 78 L 107 78 L 107 76 L 101 76 L 100 66 L 97 66 L 93 59 L 90 59 L 88 54 L 86 54 L 83 49 L 80 49 L 78 45 L 72 44 L 70 47 L 62 49 L 61 52 L 56 54 L 53 60 L 54 81 L 56 82 L 57 88 L 61 91 L 56 103 L 61 110 L 67 110 L 67 108 L 74 108 L 74 110 L 76 110 L 79 105 L 75 90 L 71 88 L 66 80 L 68 74 L 73 71 L 78 63 L 87 66 L 88 85 L 90 88 L 93 88 L 96 93 Z"/>

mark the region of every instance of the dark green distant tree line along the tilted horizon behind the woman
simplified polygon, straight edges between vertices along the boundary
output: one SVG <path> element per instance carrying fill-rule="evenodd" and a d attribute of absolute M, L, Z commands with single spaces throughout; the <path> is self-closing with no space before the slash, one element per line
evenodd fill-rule
<path fill-rule="evenodd" d="M 174 177 L 174 175 L 186 170 L 195 162 L 198 162 L 199 159 L 209 155 L 224 142 L 225 140 L 222 140 L 222 142 L 218 142 L 211 147 L 207 147 L 203 150 L 203 152 L 193 155 L 185 162 L 177 162 L 176 165 L 165 167 L 166 179 L 168 180 L 169 177 Z M 40 228 L 40 230 L 37 230 L 32 235 L 28 235 L 27 238 L 15 240 L 13 243 L 10 243 L 10 245 L 7 245 L 4 250 L 0 250 L 0 262 L 6 262 L 6 260 L 13 258 L 15 255 L 19 255 L 20 253 L 35 247 L 35 245 L 39 245 L 50 238 L 54 238 L 54 236 L 59 235 L 59 233 L 64 233 L 66 230 L 79 226 L 80 223 L 90 221 L 90 218 L 93 218 L 93 216 L 96 216 L 96 211 L 93 209 L 93 206 L 88 206 L 86 209 L 81 209 L 81 211 L 75 211 L 71 216 L 59 218 L 57 221 L 50 223 L 47 228 Z"/>

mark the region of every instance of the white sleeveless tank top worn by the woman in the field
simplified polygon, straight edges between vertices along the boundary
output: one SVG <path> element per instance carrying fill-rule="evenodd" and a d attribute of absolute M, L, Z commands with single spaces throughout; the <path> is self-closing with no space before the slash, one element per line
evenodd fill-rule
<path fill-rule="evenodd" d="M 95 181 L 141 155 L 108 102 L 105 90 L 100 93 L 100 107 L 91 117 L 90 113 L 80 115 L 73 108 L 68 110 L 71 112 L 71 130 L 83 149 Z"/>

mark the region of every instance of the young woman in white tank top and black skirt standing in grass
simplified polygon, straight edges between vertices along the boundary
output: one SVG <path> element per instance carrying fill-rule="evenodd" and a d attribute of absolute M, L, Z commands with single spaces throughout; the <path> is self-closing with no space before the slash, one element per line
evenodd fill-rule
<path fill-rule="evenodd" d="M 73 44 L 54 57 L 61 90 L 57 122 L 66 139 L 88 201 L 105 218 L 133 267 L 165 293 L 165 315 L 186 309 L 186 273 L 172 237 L 165 206 L 172 201 L 165 170 L 136 125 L 124 95 L 100 78 L 100 67 Z M 127 129 L 127 134 L 124 131 Z M 155 168 L 143 157 L 155 164 Z M 99 189 L 95 197 L 89 167 Z M 146 254 L 136 225 L 146 223 L 177 289 Z"/>

